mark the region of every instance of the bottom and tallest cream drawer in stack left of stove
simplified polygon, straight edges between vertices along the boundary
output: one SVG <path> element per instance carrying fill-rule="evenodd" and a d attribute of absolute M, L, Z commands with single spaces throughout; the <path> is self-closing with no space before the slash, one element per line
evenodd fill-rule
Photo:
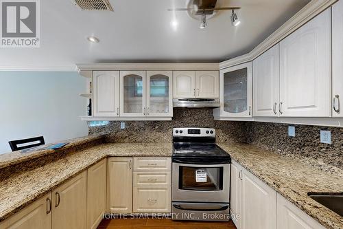
<path fill-rule="evenodd" d="M 134 212 L 170 212 L 171 188 L 170 186 L 134 186 L 133 188 Z"/>

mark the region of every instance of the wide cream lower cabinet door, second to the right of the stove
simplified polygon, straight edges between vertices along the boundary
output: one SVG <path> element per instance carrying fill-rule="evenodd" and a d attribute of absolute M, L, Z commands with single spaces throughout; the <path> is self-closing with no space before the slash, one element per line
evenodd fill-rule
<path fill-rule="evenodd" d="M 241 228 L 276 228 L 274 189 L 244 169 L 241 195 Z"/>

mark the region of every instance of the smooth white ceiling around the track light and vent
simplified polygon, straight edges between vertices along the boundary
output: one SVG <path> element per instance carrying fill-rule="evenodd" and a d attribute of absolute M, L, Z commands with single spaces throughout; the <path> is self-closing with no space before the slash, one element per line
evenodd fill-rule
<path fill-rule="evenodd" d="M 250 52 L 309 0 L 218 0 L 241 6 L 241 24 L 219 12 L 200 30 L 187 12 L 173 12 L 187 0 L 110 0 L 114 12 L 81 11 L 72 0 L 40 1 L 40 48 L 0 49 L 0 69 L 64 69 L 75 63 L 218 62 Z M 94 35 L 100 43 L 89 43 Z"/>

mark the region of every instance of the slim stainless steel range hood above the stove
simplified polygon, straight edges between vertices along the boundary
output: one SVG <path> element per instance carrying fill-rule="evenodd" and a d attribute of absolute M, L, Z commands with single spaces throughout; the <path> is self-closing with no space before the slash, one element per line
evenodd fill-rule
<path fill-rule="evenodd" d="M 219 98 L 174 98 L 173 107 L 219 107 Z"/>

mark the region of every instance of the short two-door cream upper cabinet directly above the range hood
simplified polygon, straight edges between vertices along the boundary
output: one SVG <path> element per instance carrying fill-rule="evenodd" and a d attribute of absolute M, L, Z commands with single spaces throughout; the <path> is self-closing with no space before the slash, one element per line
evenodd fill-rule
<path fill-rule="evenodd" d="M 174 98 L 218 98 L 217 71 L 174 71 Z"/>

